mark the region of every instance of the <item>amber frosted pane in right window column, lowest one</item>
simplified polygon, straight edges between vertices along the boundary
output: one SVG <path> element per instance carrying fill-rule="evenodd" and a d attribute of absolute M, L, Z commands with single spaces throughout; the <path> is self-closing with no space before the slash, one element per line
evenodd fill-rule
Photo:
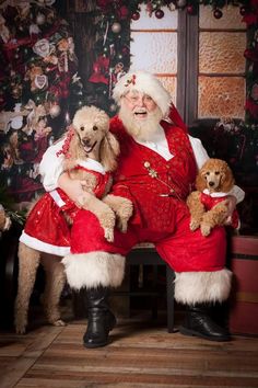
<path fill-rule="evenodd" d="M 244 78 L 199 77 L 198 95 L 199 118 L 244 118 Z"/>

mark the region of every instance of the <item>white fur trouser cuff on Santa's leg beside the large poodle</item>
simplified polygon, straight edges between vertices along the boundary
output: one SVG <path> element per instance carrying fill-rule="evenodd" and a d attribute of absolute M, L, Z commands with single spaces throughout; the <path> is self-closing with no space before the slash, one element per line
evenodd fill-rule
<path fill-rule="evenodd" d="M 62 259 L 71 288 L 118 287 L 125 273 L 126 259 L 120 254 L 91 252 L 69 254 Z"/>

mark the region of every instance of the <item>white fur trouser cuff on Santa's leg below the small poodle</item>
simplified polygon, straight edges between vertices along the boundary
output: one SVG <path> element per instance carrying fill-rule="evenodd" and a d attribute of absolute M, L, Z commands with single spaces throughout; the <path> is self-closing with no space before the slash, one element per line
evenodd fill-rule
<path fill-rule="evenodd" d="M 175 299 L 185 305 L 222 303 L 230 296 L 231 278 L 228 270 L 176 273 Z"/>

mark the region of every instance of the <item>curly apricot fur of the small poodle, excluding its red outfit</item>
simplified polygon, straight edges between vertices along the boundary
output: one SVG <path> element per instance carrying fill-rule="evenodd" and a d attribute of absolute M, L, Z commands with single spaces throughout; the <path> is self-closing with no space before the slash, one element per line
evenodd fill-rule
<path fill-rule="evenodd" d="M 233 172 L 224 160 L 211 158 L 202 166 L 196 179 L 196 191 L 187 198 L 192 231 L 200 228 L 202 236 L 209 236 L 212 228 L 224 225 L 227 215 L 226 196 L 225 201 L 207 210 L 201 202 L 201 194 L 204 190 L 209 194 L 228 193 L 234 183 Z"/>

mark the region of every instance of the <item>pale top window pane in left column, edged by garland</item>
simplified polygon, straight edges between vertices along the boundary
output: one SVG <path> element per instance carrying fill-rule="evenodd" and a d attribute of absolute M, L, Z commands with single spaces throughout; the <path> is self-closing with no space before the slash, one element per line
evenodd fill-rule
<path fill-rule="evenodd" d="M 177 28 L 177 11 L 169 11 L 167 7 L 161 8 L 164 12 L 164 18 L 156 19 L 154 14 L 149 16 L 145 11 L 146 5 L 141 5 L 140 19 L 131 21 L 131 30 L 176 30 Z"/>

